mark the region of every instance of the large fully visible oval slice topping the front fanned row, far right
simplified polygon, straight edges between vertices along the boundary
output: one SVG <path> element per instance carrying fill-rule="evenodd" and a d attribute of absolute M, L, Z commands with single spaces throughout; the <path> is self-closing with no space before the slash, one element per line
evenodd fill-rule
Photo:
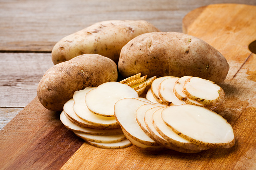
<path fill-rule="evenodd" d="M 162 120 L 181 137 L 208 147 L 229 148 L 235 138 L 232 126 L 219 114 L 195 105 L 177 105 L 161 112 Z"/>

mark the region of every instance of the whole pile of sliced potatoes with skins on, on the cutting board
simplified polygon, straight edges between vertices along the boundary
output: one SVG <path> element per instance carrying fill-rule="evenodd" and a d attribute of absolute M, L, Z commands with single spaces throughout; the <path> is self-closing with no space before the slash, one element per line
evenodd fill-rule
<path fill-rule="evenodd" d="M 196 153 L 234 145 L 231 125 L 211 110 L 223 100 L 223 89 L 212 81 L 137 74 L 76 91 L 60 120 L 96 147 L 133 144 L 141 149 Z"/>

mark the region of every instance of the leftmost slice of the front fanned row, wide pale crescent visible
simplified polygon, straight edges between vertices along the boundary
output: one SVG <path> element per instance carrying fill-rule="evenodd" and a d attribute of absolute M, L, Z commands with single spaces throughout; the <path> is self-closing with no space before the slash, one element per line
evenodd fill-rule
<path fill-rule="evenodd" d="M 159 144 L 140 128 L 135 118 L 136 110 L 144 104 L 148 103 L 134 98 L 121 99 L 115 104 L 115 117 L 131 138 L 144 145 L 157 146 Z"/>

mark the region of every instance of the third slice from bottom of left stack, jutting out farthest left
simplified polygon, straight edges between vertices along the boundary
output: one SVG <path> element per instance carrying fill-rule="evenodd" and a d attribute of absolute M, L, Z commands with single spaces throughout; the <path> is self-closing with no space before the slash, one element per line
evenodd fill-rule
<path fill-rule="evenodd" d="M 115 135 L 115 134 L 122 134 L 122 129 L 92 129 L 81 127 L 74 124 L 70 121 L 66 116 L 64 111 L 60 114 L 60 121 L 64 124 L 64 126 L 70 130 L 80 131 L 87 134 L 94 134 L 94 135 Z"/>

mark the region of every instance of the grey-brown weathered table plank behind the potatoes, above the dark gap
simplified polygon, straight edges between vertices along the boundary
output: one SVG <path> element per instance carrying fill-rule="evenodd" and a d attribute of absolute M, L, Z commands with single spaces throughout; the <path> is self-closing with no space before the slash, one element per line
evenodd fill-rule
<path fill-rule="evenodd" d="M 163 32 L 182 32 L 189 11 L 212 3 L 256 5 L 242 0 L 1 1 L 0 51 L 50 52 L 61 38 L 105 20 L 146 20 Z"/>

